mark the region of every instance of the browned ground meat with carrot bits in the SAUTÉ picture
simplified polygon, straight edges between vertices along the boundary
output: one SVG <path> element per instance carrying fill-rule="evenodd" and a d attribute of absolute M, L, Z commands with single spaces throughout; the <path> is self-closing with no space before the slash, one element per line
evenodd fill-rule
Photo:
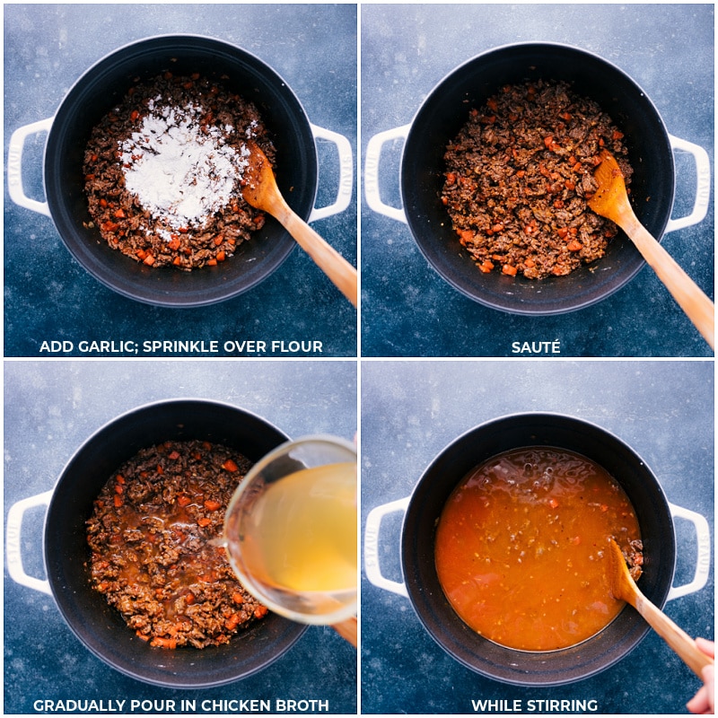
<path fill-rule="evenodd" d="M 562 276 L 603 257 L 617 227 L 586 200 L 603 147 L 630 183 L 623 134 L 568 83 L 506 85 L 447 146 L 442 202 L 482 272 Z"/>

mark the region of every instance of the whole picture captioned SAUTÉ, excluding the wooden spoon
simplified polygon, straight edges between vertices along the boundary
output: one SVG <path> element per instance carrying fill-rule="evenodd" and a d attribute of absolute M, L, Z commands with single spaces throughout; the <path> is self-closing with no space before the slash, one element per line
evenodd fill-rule
<path fill-rule="evenodd" d="M 364 356 L 713 355 L 587 207 L 609 147 L 639 220 L 713 297 L 713 4 L 361 18 Z"/>

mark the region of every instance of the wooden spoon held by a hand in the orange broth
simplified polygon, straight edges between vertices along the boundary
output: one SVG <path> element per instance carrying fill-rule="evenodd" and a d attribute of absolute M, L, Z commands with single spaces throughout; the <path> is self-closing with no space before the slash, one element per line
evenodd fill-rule
<path fill-rule="evenodd" d="M 652 629 L 679 654 L 688 668 L 693 670 L 699 679 L 703 679 L 701 669 L 713 665 L 713 659 L 699 651 L 696 642 L 644 596 L 628 573 L 621 549 L 613 538 L 609 547 L 609 581 L 614 598 L 630 603 Z"/>

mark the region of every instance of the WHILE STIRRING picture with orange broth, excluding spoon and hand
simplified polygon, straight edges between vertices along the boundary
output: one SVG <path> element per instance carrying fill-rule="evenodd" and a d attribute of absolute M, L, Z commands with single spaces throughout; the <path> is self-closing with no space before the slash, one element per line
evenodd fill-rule
<path fill-rule="evenodd" d="M 638 540 L 608 472 L 639 589 L 713 639 L 712 363 L 367 361 L 361 392 L 363 714 L 686 711 L 700 680 L 633 609 L 584 621 L 594 521 Z"/>

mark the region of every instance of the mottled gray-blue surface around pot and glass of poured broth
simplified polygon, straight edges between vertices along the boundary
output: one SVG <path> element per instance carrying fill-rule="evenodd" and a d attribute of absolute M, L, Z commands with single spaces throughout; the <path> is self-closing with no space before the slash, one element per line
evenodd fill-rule
<path fill-rule="evenodd" d="M 356 431 L 354 362 L 5 362 L 4 516 L 51 489 L 74 451 L 125 411 L 164 398 L 214 398 L 263 416 L 293 438 Z M 43 577 L 44 512 L 22 530 L 25 570 Z M 82 559 L 78 559 L 82 560 Z M 202 690 L 165 690 L 109 668 L 84 648 L 49 596 L 4 574 L 4 713 L 34 714 L 38 700 L 326 700 L 356 713 L 356 652 L 331 628 L 311 626 L 278 661 L 247 679 Z M 233 713 L 202 710 L 199 713 Z M 138 713 L 173 713 L 141 710 Z M 324 711 L 327 712 L 326 710 Z M 129 713 L 126 710 L 126 713 Z"/>

